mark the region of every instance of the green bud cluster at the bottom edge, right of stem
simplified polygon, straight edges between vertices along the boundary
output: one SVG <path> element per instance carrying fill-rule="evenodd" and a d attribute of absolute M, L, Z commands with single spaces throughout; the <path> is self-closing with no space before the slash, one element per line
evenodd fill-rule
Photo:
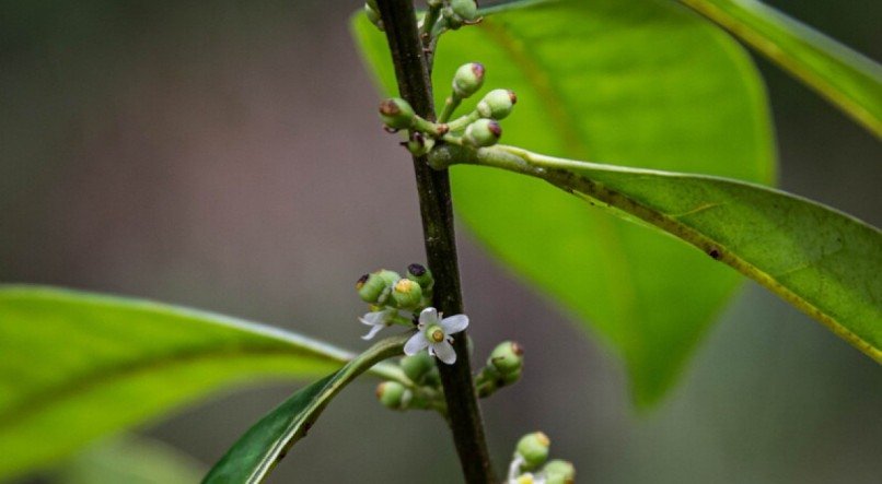
<path fill-rule="evenodd" d="M 542 432 L 534 432 L 521 437 L 509 465 L 508 484 L 572 484 L 576 482 L 576 468 L 572 463 L 560 459 L 548 461 L 550 445 L 550 439 Z M 548 462 L 546 463 L 546 461 Z"/>

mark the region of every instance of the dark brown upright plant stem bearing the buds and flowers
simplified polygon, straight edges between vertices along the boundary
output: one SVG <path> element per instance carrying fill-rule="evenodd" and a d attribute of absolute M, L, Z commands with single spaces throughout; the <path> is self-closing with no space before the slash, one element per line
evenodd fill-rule
<path fill-rule="evenodd" d="M 395 64 L 398 92 L 419 116 L 434 120 L 429 66 L 417 31 L 414 3 L 411 0 L 378 0 L 376 3 Z M 425 155 L 414 156 L 414 170 L 419 192 L 426 258 L 434 276 L 433 303 L 441 312 L 462 314 L 463 300 L 448 170 L 430 168 Z M 465 481 L 469 484 L 490 484 L 496 479 L 472 381 L 464 332 L 454 340 L 453 347 L 456 351 L 456 363 L 438 364 L 453 441 Z"/>

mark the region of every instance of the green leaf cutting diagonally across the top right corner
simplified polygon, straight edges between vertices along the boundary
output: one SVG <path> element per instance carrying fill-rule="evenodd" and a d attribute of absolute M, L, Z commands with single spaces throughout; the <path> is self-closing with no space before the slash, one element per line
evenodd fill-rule
<path fill-rule="evenodd" d="M 882 66 L 754 0 L 680 0 L 882 137 Z"/>

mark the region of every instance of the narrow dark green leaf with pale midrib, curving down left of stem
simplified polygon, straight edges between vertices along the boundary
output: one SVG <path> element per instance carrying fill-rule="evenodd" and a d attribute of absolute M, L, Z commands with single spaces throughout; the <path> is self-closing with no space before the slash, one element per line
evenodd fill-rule
<path fill-rule="evenodd" d="M 350 381 L 364 370 L 402 353 L 410 333 L 382 340 L 339 371 L 291 396 L 245 433 L 206 475 L 204 483 L 259 483 L 306 435 L 318 415 Z"/>

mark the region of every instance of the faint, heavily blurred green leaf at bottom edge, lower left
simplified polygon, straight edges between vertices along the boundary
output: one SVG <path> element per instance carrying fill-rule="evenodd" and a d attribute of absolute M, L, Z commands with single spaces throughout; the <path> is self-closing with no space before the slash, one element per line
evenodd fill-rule
<path fill-rule="evenodd" d="M 192 484 L 205 474 L 189 456 L 146 437 L 125 436 L 78 455 L 54 475 L 59 484 Z"/>

